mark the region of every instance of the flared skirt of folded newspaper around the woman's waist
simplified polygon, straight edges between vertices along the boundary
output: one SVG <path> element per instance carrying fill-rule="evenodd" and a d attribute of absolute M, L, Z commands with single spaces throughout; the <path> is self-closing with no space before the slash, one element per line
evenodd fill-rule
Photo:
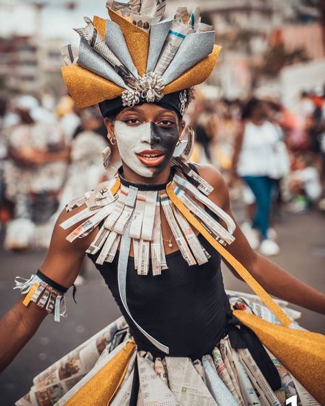
<path fill-rule="evenodd" d="M 230 291 L 228 296 L 237 309 L 278 323 L 256 296 Z M 278 304 L 291 318 L 300 316 L 286 302 L 278 300 Z M 269 350 L 267 353 L 281 379 L 282 386 L 276 391 L 249 350 L 233 348 L 228 336 L 202 359 L 154 359 L 137 350 L 121 317 L 38 374 L 31 390 L 15 405 L 128 406 L 131 398 L 137 406 L 319 405 Z"/>

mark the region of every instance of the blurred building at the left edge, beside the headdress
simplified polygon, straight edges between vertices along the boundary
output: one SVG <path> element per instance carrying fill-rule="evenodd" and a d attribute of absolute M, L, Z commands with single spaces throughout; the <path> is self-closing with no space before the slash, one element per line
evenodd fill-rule
<path fill-rule="evenodd" d="M 1 88 L 28 93 L 47 86 L 62 66 L 60 45 L 52 38 L 40 44 L 34 36 L 0 38 Z"/>

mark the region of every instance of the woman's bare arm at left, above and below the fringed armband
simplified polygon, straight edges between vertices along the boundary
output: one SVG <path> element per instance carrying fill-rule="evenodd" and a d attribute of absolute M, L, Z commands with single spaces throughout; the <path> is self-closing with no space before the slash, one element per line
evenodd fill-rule
<path fill-rule="evenodd" d="M 93 240 L 93 234 L 96 231 L 94 230 L 88 237 L 69 243 L 66 237 L 72 230 L 63 230 L 60 223 L 77 211 L 81 211 L 82 208 L 84 207 L 77 208 L 70 213 L 65 211 L 61 213 L 53 230 L 49 252 L 40 267 L 43 274 L 67 288 L 73 285 L 82 265 L 84 252 Z M 31 270 L 31 274 L 35 273 L 36 270 Z M 0 320 L 0 372 L 10 364 L 32 338 L 47 315 L 47 311 L 34 302 L 29 302 L 28 307 L 25 307 L 24 298 L 25 296 L 20 298 Z"/>

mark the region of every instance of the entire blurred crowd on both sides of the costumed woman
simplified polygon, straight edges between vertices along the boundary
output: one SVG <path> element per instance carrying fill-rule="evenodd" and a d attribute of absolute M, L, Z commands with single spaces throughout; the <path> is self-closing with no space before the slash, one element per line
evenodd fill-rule
<path fill-rule="evenodd" d="M 185 120 L 196 134 L 192 160 L 217 167 L 230 199 L 243 200 L 241 226 L 253 248 L 278 253 L 273 225 L 284 207 L 325 211 L 322 89 L 302 93 L 291 110 L 273 97 L 213 99 L 198 90 Z M 113 176 L 120 164 L 97 108 L 79 110 L 69 96 L 0 99 L 5 249 L 46 248 L 64 205 Z"/>

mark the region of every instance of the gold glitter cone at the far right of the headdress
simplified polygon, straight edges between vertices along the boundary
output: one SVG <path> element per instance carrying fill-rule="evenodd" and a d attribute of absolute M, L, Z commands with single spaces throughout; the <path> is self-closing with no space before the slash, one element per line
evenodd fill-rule
<path fill-rule="evenodd" d="M 215 45 L 210 55 L 188 69 L 176 80 L 173 80 L 173 82 L 167 84 L 167 86 L 163 89 L 163 93 L 167 95 L 169 93 L 177 92 L 184 88 L 190 88 L 196 84 L 204 82 L 204 80 L 208 79 L 210 73 L 213 71 L 220 51 L 221 47 L 219 47 L 219 45 Z"/>

